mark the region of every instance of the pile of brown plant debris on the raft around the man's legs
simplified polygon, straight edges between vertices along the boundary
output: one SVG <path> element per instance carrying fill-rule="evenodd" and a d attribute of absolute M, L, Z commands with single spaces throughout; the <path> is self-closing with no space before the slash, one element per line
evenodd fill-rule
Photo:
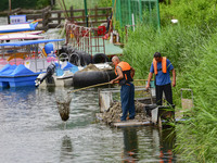
<path fill-rule="evenodd" d="M 135 120 L 127 120 L 126 122 L 150 122 L 151 117 L 146 115 L 144 111 L 144 103 L 135 101 L 136 116 Z M 111 106 L 103 113 L 98 113 L 98 120 L 103 121 L 105 124 L 112 125 L 113 123 L 118 123 L 122 116 L 122 104 L 120 102 L 113 102 Z"/>

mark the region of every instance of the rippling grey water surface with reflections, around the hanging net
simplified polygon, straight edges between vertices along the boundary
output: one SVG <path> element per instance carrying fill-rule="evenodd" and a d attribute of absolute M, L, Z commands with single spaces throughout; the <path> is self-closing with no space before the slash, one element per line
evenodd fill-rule
<path fill-rule="evenodd" d="M 176 162 L 174 140 L 166 139 L 169 133 L 95 123 L 95 89 L 72 93 L 64 129 L 55 98 L 71 89 L 0 90 L 0 162 Z"/>

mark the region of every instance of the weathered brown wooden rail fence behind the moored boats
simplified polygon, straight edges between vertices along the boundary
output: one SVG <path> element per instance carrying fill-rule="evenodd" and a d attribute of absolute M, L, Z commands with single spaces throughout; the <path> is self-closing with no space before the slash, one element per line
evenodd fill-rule
<path fill-rule="evenodd" d="M 107 22 L 107 17 L 111 15 L 112 8 L 98 8 L 88 9 L 88 26 L 99 26 L 102 23 Z M 2 12 L 5 14 L 5 12 Z M 26 15 L 26 21 L 35 21 L 42 18 L 39 22 L 39 29 L 47 30 L 49 28 L 63 27 L 63 21 L 68 20 L 74 24 L 87 26 L 85 9 L 74 9 L 71 7 L 69 10 L 51 10 L 51 7 L 47 7 L 42 10 L 22 10 L 14 9 L 8 12 L 8 23 L 10 23 L 10 15 Z"/>

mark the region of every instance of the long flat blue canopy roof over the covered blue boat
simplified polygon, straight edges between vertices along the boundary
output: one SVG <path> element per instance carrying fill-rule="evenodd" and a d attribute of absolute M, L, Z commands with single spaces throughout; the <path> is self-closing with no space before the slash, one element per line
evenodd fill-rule
<path fill-rule="evenodd" d="M 3 47 L 3 46 L 22 47 L 22 46 L 28 46 L 28 45 L 38 45 L 38 43 L 55 42 L 55 41 L 63 41 L 63 40 L 65 40 L 65 39 L 38 39 L 38 40 L 26 40 L 26 41 L 16 41 L 16 42 L 0 43 L 0 47 Z"/>

